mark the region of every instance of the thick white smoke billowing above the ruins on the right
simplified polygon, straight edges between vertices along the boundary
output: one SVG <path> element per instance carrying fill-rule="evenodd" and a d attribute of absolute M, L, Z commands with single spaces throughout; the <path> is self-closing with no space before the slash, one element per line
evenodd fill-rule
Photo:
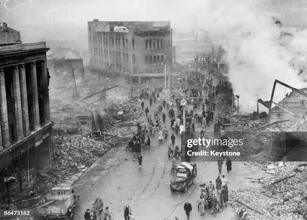
<path fill-rule="evenodd" d="M 278 79 L 293 87 L 307 87 L 307 30 L 287 27 L 275 18 L 268 1 L 212 1 L 204 21 L 210 38 L 225 50 L 228 76 L 240 110 L 252 112 L 257 99 L 269 100 Z M 267 5 L 267 6 L 266 6 Z M 285 90 L 276 90 L 281 100 Z"/>

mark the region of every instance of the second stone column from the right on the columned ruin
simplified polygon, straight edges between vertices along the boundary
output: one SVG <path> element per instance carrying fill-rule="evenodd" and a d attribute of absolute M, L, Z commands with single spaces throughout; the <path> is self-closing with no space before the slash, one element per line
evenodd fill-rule
<path fill-rule="evenodd" d="M 31 63 L 31 80 L 33 92 L 33 111 L 34 111 L 34 126 L 38 130 L 41 128 L 40 124 L 40 110 L 38 104 L 38 91 L 37 91 L 37 76 L 36 76 L 36 63 Z"/>

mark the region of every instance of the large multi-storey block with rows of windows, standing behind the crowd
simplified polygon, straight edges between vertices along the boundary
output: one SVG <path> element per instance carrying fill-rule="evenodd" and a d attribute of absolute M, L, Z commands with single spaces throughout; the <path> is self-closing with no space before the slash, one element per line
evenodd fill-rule
<path fill-rule="evenodd" d="M 171 63 L 170 21 L 88 21 L 90 65 L 128 75 L 159 75 Z"/>

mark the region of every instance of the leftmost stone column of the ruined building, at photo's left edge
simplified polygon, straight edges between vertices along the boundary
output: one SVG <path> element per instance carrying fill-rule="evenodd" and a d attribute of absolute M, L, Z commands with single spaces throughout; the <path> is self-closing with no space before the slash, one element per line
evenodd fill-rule
<path fill-rule="evenodd" d="M 11 145 L 9 133 L 9 118 L 7 106 L 7 92 L 4 69 L 0 69 L 0 120 L 1 120 L 1 136 L 2 146 L 7 148 Z"/>

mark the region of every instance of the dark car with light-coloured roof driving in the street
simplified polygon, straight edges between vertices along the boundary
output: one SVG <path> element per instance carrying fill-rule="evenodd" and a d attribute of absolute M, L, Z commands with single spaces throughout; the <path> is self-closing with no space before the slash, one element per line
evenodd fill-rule
<path fill-rule="evenodd" d="M 182 162 L 176 169 L 176 180 L 171 181 L 171 190 L 180 190 L 186 192 L 191 184 L 194 183 L 197 167 L 195 163 Z"/>

